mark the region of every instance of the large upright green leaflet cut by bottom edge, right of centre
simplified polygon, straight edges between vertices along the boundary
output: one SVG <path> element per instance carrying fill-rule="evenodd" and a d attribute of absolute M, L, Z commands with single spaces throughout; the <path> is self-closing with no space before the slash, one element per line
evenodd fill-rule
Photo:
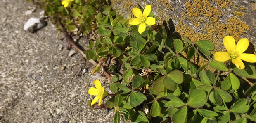
<path fill-rule="evenodd" d="M 172 116 L 173 123 L 185 123 L 187 119 L 187 106 L 183 106 Z"/>

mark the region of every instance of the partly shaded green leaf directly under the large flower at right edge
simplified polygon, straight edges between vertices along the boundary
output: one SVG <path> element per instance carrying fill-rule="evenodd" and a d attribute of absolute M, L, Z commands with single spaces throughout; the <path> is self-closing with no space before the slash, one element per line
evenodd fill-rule
<path fill-rule="evenodd" d="M 246 77 L 246 78 L 251 78 L 251 79 L 256 79 L 256 70 L 255 70 L 255 64 L 254 63 L 249 63 L 249 62 L 244 62 L 244 69 L 240 70 L 237 67 L 234 68 L 234 73 L 236 75 L 239 75 L 241 77 Z"/>

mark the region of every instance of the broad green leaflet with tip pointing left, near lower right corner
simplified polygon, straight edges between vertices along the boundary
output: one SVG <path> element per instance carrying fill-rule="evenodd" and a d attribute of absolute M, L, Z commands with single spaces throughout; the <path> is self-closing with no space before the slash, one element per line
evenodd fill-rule
<path fill-rule="evenodd" d="M 246 105 L 247 100 L 246 99 L 241 99 L 238 100 L 231 108 L 230 112 L 236 112 L 236 113 L 245 113 L 249 110 L 250 106 Z"/>

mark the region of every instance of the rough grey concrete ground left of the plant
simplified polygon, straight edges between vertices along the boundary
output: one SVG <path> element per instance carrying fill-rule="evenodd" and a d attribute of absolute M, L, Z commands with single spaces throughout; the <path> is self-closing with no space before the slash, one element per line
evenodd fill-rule
<path fill-rule="evenodd" d="M 39 8 L 25 15 L 33 7 L 26 0 L 1 0 L 0 123 L 112 123 L 113 110 L 92 110 L 86 103 L 94 98 L 87 93 L 93 79 L 82 74 L 90 64 L 71 69 L 85 60 L 68 55 L 66 41 L 56 38 L 49 21 L 37 33 L 23 30 L 29 18 L 40 16 Z"/>

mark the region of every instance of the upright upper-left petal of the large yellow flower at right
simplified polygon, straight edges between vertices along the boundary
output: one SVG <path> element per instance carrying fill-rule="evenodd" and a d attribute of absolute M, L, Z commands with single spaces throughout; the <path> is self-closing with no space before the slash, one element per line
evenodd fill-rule
<path fill-rule="evenodd" d="M 232 36 L 225 36 L 223 43 L 229 54 L 235 51 L 235 39 Z"/>

